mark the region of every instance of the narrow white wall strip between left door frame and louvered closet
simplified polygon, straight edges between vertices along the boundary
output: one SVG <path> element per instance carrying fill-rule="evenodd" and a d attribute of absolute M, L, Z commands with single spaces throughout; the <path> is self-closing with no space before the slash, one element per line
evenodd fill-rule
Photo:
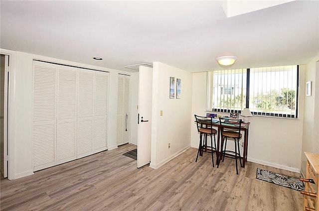
<path fill-rule="evenodd" d="M 16 52 L 14 179 L 32 174 L 32 65 L 30 55 Z"/>

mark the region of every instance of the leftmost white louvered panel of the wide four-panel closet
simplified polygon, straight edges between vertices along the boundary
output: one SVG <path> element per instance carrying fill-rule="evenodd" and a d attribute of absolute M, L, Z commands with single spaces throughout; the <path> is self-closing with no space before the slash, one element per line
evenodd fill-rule
<path fill-rule="evenodd" d="M 56 65 L 33 61 L 34 171 L 56 163 L 56 73 Z"/>

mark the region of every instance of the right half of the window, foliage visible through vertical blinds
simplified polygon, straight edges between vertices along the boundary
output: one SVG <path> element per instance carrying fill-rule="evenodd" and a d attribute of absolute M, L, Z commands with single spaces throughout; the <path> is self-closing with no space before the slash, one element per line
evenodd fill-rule
<path fill-rule="evenodd" d="M 297 117 L 297 65 L 251 68 L 249 109 L 253 114 Z"/>

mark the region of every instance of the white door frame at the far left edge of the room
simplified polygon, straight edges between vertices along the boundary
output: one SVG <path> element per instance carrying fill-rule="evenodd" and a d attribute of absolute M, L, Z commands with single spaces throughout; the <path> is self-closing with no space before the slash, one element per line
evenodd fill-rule
<path fill-rule="evenodd" d="M 8 73 L 8 113 L 7 113 L 7 149 L 8 149 L 8 179 L 15 179 L 14 172 L 14 145 L 15 145 L 15 69 L 16 69 L 16 52 L 0 48 L 0 54 L 9 56 L 9 73 Z"/>

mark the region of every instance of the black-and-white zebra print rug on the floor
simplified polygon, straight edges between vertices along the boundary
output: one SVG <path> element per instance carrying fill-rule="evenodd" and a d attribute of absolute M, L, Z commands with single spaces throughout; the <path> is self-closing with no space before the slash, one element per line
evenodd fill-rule
<path fill-rule="evenodd" d="M 276 172 L 257 168 L 256 179 L 291 188 L 296 191 L 304 191 L 305 185 L 299 178 L 290 177 Z"/>

